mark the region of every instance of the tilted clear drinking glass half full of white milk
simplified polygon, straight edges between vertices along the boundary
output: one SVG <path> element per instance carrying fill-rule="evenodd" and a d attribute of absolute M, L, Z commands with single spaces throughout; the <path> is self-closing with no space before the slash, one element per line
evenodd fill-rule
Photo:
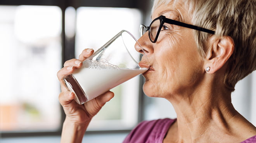
<path fill-rule="evenodd" d="M 67 88 L 74 92 L 75 101 L 83 104 L 117 85 L 144 73 L 148 66 L 140 67 L 142 54 L 143 64 L 149 65 L 144 49 L 130 32 L 122 30 L 110 39 L 92 56 L 83 61 L 83 66 L 73 74 L 63 78 Z"/>

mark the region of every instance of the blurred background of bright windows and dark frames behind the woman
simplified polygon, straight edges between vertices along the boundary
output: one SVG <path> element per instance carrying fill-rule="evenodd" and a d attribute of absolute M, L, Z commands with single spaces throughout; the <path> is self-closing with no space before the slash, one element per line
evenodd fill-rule
<path fill-rule="evenodd" d="M 125 29 L 139 37 L 150 0 L 1 0 L 0 143 L 57 143 L 65 115 L 57 71 L 85 48 L 97 49 Z M 120 143 L 142 120 L 175 118 L 165 99 L 142 92 L 137 76 L 93 118 L 83 142 Z M 256 72 L 232 94 L 235 108 L 256 125 Z"/>

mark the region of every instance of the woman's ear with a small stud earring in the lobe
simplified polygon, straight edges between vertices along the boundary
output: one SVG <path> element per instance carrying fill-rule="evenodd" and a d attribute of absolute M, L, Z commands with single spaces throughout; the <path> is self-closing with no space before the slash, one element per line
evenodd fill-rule
<path fill-rule="evenodd" d="M 230 36 L 223 36 L 215 39 L 215 36 L 209 38 L 207 45 L 204 68 L 210 67 L 207 73 L 215 73 L 228 61 L 234 52 L 234 40 Z"/>

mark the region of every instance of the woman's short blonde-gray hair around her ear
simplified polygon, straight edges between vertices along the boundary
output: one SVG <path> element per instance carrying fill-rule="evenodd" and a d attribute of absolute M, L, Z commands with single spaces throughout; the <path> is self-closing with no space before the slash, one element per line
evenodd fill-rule
<path fill-rule="evenodd" d="M 152 10 L 178 0 L 155 0 Z M 256 0 L 180 0 L 192 12 L 192 24 L 212 29 L 219 38 L 234 40 L 234 53 L 228 60 L 223 84 L 231 91 L 235 84 L 256 70 Z M 204 43 L 210 34 L 194 31 L 195 41 L 202 57 Z"/>

